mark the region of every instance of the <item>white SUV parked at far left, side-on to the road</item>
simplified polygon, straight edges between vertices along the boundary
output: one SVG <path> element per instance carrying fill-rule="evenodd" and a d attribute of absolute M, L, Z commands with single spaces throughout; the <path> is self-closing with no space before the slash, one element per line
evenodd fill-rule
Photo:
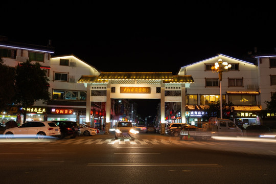
<path fill-rule="evenodd" d="M 4 131 L 4 136 L 7 139 L 14 137 L 36 137 L 39 140 L 44 140 L 47 136 L 61 135 L 60 128 L 56 123 L 51 121 L 31 121 L 23 123 L 14 128 L 9 128 Z"/>

